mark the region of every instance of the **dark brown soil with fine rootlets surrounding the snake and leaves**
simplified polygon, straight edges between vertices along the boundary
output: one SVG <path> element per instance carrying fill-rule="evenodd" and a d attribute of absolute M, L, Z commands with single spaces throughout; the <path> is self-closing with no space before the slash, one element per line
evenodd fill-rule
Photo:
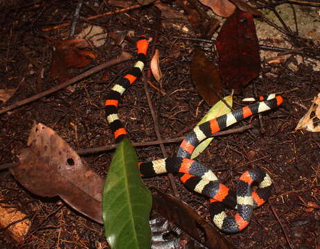
<path fill-rule="evenodd" d="M 263 1 L 254 3 L 255 6 L 265 6 Z M 294 8 L 302 8 L 294 1 L 292 3 Z M 87 2 L 82 7 L 81 15 L 90 17 L 134 4 L 135 1 Z M 311 8 L 308 2 L 306 4 L 304 10 L 309 8 L 312 15 L 317 15 L 319 6 Z M 1 108 L 4 108 L 60 84 L 50 77 L 53 44 L 44 35 L 67 39 L 69 26 L 47 32 L 43 29 L 72 21 L 77 1 L 10 1 L 1 5 L 0 89 L 17 89 L 2 105 Z M 161 136 L 166 139 L 186 135 L 210 108 L 190 79 L 194 48 L 197 46 L 206 50 L 206 55 L 213 62 L 217 61 L 217 56 L 213 44 L 174 38 L 195 37 L 195 34 L 175 1 L 163 1 L 161 6 L 163 13 L 166 7 L 173 14 L 168 15 L 166 9 L 166 15 L 161 18 L 157 49 L 161 55 L 163 80 L 158 84 L 150 78 L 156 86 L 150 86 L 150 95 Z M 208 11 L 204 6 L 202 8 Z M 319 19 L 315 22 L 319 25 Z M 140 34 L 147 37 L 154 35 L 156 10 L 152 3 L 90 21 L 80 20 L 75 33 L 80 33 L 90 24 L 102 27 L 103 33 L 109 36 L 103 46 L 94 48 L 98 55 L 94 62 L 84 68 L 71 69 L 71 75 L 107 62 L 122 51 L 135 55 L 136 38 Z M 127 33 L 122 45 L 112 45 L 110 37 L 115 32 Z M 265 169 L 272 176 L 274 190 L 268 203 L 254 211 L 249 227 L 243 232 L 226 235 L 235 248 L 320 248 L 320 136 L 308 131 L 294 131 L 299 119 L 320 92 L 320 72 L 315 71 L 314 67 L 319 63 L 320 56 L 319 27 L 312 32 L 316 34 L 314 39 L 282 34 L 290 48 L 303 48 L 299 50 L 303 58 L 301 62 L 292 53 L 277 57 L 278 61 L 274 63 L 263 59 L 259 77 L 234 99 L 237 109 L 243 106 L 241 100 L 244 97 L 281 93 L 284 98 L 281 107 L 264 113 L 260 120 L 256 116 L 253 120 L 236 124 L 235 127 L 241 127 L 254 122 L 261 127 L 258 125 L 258 128 L 249 131 L 217 137 L 197 158 L 210 167 L 222 183 L 233 188 L 240 173 L 250 168 Z M 272 39 L 269 37 L 269 40 Z M 283 47 L 278 40 L 277 44 L 270 46 Z M 269 57 L 276 55 L 274 52 Z M 310 61 L 312 57 L 314 60 Z M 17 156 L 26 147 L 34 122 L 54 129 L 73 149 L 112 144 L 114 138 L 105 119 L 104 101 L 114 79 L 132 63 L 107 68 L 68 89 L 2 113 L 0 165 L 18 161 Z M 222 91 L 224 96 L 229 94 L 227 89 Z M 157 140 L 141 80 L 124 95 L 119 113 L 132 142 Z M 165 147 L 168 155 L 174 156 L 179 142 L 168 143 Z M 163 158 L 159 145 L 137 147 L 136 151 L 140 160 Z M 83 158 L 95 172 L 105 176 L 112 153 L 112 150 L 103 151 Z M 167 176 L 146 179 L 145 183 L 172 193 Z M 179 178 L 175 178 L 175 183 L 181 199 L 211 222 L 208 199 L 186 190 Z M 46 199 L 28 192 L 6 169 L 0 170 L 0 205 L 16 208 L 27 214 L 31 221 L 28 234 L 19 242 L 10 239 L 6 229 L 0 229 L 1 248 L 109 248 L 102 225 L 85 219 L 59 198 Z"/>

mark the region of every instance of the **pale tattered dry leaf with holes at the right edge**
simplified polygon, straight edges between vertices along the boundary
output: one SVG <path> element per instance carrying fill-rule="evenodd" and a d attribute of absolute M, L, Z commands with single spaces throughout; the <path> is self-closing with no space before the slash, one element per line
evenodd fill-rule
<path fill-rule="evenodd" d="M 312 116 L 312 113 L 314 113 L 314 116 Z M 320 120 L 320 93 L 318 93 L 317 97 L 314 97 L 310 109 L 305 113 L 305 116 L 299 120 L 295 131 L 305 129 L 310 132 L 319 132 L 320 124 L 314 124 L 316 118 Z"/>

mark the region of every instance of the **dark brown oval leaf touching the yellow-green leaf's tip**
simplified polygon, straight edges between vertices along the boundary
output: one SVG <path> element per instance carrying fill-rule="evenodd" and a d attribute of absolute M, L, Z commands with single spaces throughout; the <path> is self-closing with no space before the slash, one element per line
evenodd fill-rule
<path fill-rule="evenodd" d="M 198 48 L 195 49 L 195 56 L 191 62 L 191 77 L 195 88 L 208 104 L 213 105 L 219 100 L 216 94 L 222 89 L 219 72 Z"/>

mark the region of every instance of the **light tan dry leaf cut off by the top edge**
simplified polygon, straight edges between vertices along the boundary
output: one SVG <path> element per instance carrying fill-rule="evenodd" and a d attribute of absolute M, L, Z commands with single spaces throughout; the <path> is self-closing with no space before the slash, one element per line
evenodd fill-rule
<path fill-rule="evenodd" d="M 211 8 L 220 17 L 230 17 L 235 10 L 235 5 L 229 0 L 199 0 L 199 2 Z"/>

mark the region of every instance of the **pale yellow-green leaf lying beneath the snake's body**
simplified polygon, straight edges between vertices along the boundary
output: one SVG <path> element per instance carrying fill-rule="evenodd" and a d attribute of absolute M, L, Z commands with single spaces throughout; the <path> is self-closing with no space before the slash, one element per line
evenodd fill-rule
<path fill-rule="evenodd" d="M 231 93 L 231 95 L 229 95 L 229 96 L 226 96 L 224 98 L 224 100 L 229 104 L 230 107 L 232 107 L 233 93 Z M 202 124 L 208 120 L 212 120 L 213 118 L 220 117 L 226 113 L 229 113 L 230 111 L 231 110 L 229 109 L 229 107 L 227 107 L 226 104 L 224 104 L 224 102 L 222 102 L 220 100 L 217 102 L 217 104 L 215 104 L 213 107 L 211 107 L 211 109 L 208 111 L 208 113 L 206 113 L 204 118 L 202 118 L 202 120 L 200 120 L 200 122 L 197 125 Z M 206 147 L 208 147 L 208 145 L 210 144 L 210 142 L 212 140 L 213 140 L 213 138 L 207 138 L 206 140 L 200 142 L 199 145 L 197 147 L 195 147 L 195 150 L 193 151 L 193 154 L 191 155 L 191 159 L 194 159 L 197 156 L 199 156 L 199 154 L 201 154 L 202 151 L 204 151 L 204 149 L 206 149 Z"/>

